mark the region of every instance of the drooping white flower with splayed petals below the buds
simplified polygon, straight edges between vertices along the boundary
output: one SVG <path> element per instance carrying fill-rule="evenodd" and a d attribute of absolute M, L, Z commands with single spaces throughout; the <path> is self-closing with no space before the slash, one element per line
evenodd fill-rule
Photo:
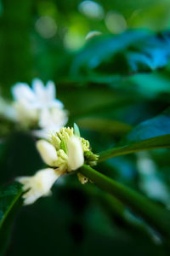
<path fill-rule="evenodd" d="M 28 190 L 24 195 L 24 205 L 30 205 L 42 196 L 51 195 L 51 188 L 61 173 L 52 168 L 38 171 L 31 177 L 18 177 L 16 180 L 22 183 L 23 190 Z"/>

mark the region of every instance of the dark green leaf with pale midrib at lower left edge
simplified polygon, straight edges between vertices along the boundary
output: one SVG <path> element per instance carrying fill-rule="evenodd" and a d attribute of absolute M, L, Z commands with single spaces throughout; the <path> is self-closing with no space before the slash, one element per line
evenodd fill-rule
<path fill-rule="evenodd" d="M 21 206 L 22 193 L 22 185 L 16 182 L 0 189 L 0 255 L 8 247 L 10 227 Z"/>

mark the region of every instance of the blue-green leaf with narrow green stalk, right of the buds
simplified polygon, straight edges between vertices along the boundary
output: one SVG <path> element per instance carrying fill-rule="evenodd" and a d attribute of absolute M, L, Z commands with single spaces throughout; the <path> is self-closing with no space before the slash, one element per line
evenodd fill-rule
<path fill-rule="evenodd" d="M 125 137 L 121 147 L 99 153 L 99 161 L 122 154 L 132 154 L 142 150 L 170 147 L 170 108 L 153 119 L 137 125 Z"/>

